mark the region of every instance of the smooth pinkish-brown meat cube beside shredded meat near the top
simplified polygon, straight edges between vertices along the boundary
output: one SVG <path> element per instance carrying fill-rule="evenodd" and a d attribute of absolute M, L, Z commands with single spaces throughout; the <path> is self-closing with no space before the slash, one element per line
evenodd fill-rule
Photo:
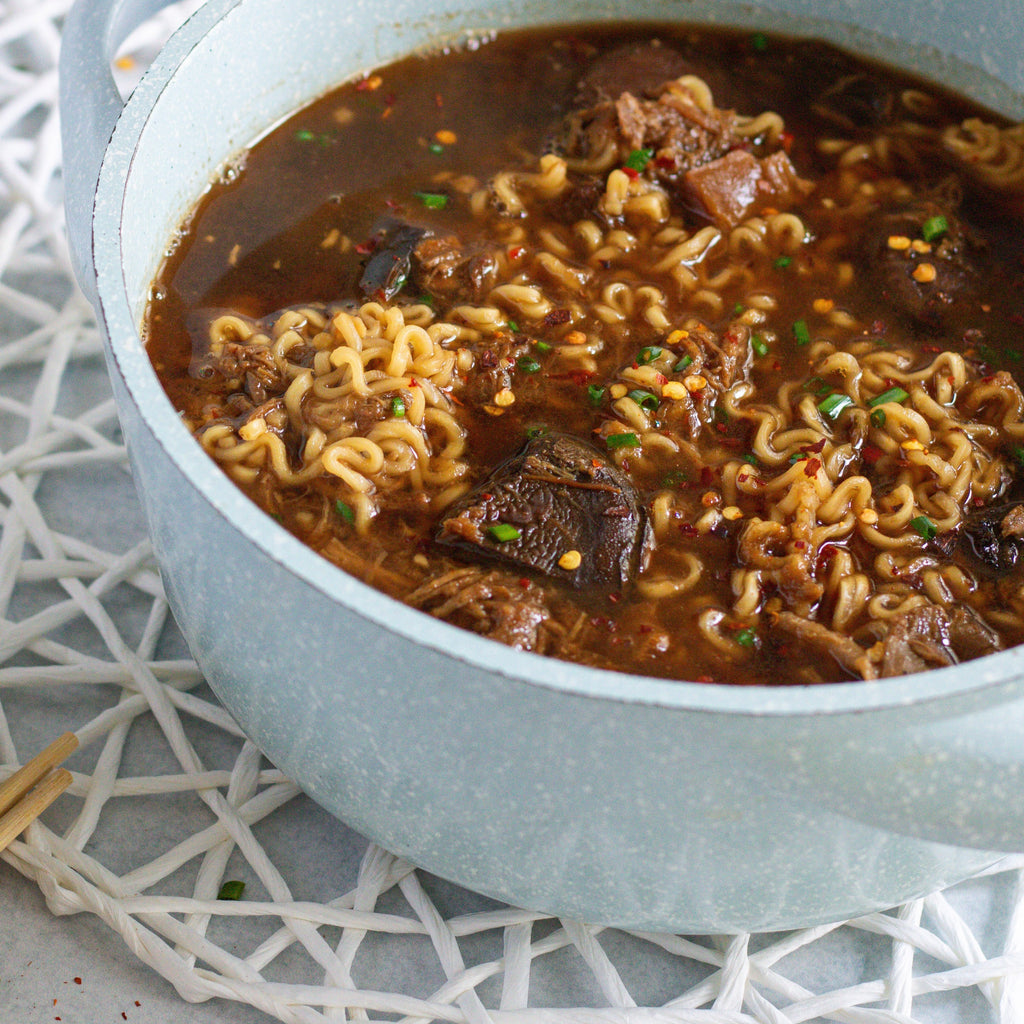
<path fill-rule="evenodd" d="M 765 207 L 784 210 L 807 196 L 814 185 L 797 174 L 781 151 L 758 160 L 744 150 L 686 172 L 689 201 L 719 227 L 735 227 Z"/>

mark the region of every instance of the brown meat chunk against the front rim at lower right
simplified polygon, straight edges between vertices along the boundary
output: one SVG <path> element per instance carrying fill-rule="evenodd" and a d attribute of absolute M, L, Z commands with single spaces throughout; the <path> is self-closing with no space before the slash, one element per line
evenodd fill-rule
<path fill-rule="evenodd" d="M 922 604 L 897 615 L 886 634 L 883 676 L 906 676 L 1001 650 L 1002 642 L 970 608 Z"/>

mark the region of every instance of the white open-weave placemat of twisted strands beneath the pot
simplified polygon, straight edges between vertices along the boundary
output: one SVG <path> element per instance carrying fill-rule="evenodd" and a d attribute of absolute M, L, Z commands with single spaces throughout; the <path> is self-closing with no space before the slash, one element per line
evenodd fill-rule
<path fill-rule="evenodd" d="M 842 925 L 636 935 L 417 871 L 261 760 L 168 615 L 71 283 L 56 110 L 69 2 L 0 2 L 0 778 L 65 728 L 82 750 L 71 795 L 2 855 L 0 887 L 20 872 L 182 999 L 234 1000 L 253 1021 L 1021 1024 L 1024 857 Z M 133 38 L 126 83 L 180 16 Z M 216 899 L 225 879 L 246 882 L 241 900 Z M 16 916 L 4 927 L 31 927 Z M 5 998 L 20 1004 L 4 971 L 7 1021 Z"/>

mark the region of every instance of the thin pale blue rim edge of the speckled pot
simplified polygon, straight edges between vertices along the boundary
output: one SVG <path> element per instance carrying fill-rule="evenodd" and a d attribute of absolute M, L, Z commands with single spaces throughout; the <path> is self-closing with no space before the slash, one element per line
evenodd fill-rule
<path fill-rule="evenodd" d="M 117 368 L 135 413 L 167 457 L 216 514 L 250 545 L 333 605 L 406 639 L 508 683 L 616 703 L 740 717 L 821 716 L 921 707 L 986 693 L 994 698 L 997 690 L 1024 676 L 1024 646 L 910 676 L 778 687 L 695 683 L 590 668 L 516 650 L 413 609 L 333 565 L 262 512 L 203 452 L 165 395 L 131 315 L 121 246 L 127 181 L 153 110 L 164 90 L 173 87 L 178 65 L 225 15 L 242 5 L 242 0 L 211 0 L 200 8 L 165 44 L 135 88 L 103 156 L 91 239 L 98 318 L 112 368 Z"/>

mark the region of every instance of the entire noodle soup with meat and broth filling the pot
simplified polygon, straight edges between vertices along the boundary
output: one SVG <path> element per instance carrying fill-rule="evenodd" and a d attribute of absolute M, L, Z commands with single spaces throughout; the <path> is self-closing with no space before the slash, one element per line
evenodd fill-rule
<path fill-rule="evenodd" d="M 733 684 L 1024 637 L 1024 130 L 830 45 L 418 54 L 210 187 L 145 339 L 341 569 L 526 650 Z"/>

